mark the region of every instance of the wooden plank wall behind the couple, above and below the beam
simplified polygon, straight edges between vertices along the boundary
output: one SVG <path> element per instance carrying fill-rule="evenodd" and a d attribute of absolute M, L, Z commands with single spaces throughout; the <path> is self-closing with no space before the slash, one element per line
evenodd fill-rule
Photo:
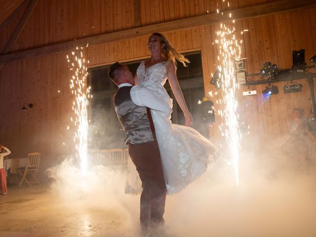
<path fill-rule="evenodd" d="M 30 18 L 31 25 L 24 29 L 23 38 L 20 38 L 15 45 L 15 50 L 33 47 L 36 44 L 50 44 L 74 37 L 80 38 L 133 27 L 133 0 L 120 0 L 120 8 L 118 1 L 114 0 L 94 2 L 65 0 L 66 8 L 60 7 L 58 3 L 60 1 L 39 1 L 32 19 Z M 212 12 L 217 9 L 217 2 L 212 0 L 179 0 L 177 2 L 163 0 L 159 1 L 159 4 L 155 0 L 140 0 L 140 3 L 142 25 L 164 22 L 171 18 L 195 16 L 207 10 Z M 147 4 L 150 4 L 149 11 L 146 10 Z M 151 4 L 158 7 L 159 12 L 152 12 Z M 235 0 L 231 4 L 230 7 L 237 8 L 255 3 L 250 0 Z M 110 11 L 111 7 L 121 9 L 120 13 Z M 93 15 L 85 13 L 83 8 L 88 12 L 92 11 Z M 175 8 L 181 8 L 184 11 L 179 12 Z M 44 11 L 41 12 L 40 9 Z M 143 12 L 144 9 L 145 12 Z M 170 9 L 174 12 L 171 13 Z M 123 16 L 122 11 L 126 10 L 129 13 Z M 57 14 L 53 14 L 55 11 Z M 79 20 L 72 22 L 78 15 L 81 16 Z M 120 19 L 119 24 L 113 24 L 118 19 Z M 35 24 L 32 27 L 32 22 L 34 24 L 36 21 L 40 21 L 39 25 Z M 52 25 L 51 22 L 56 24 Z M 9 26 L 14 27 L 15 24 L 15 21 L 11 22 L 1 33 L 5 33 L 5 37 L 9 36 L 11 31 Z M 73 27 L 65 28 L 69 24 Z M 92 28 L 92 26 L 95 27 Z M 307 62 L 316 54 L 315 7 L 237 21 L 234 26 L 238 37 L 243 40 L 242 57 L 247 58 L 248 73 L 260 72 L 262 64 L 266 61 L 276 63 L 279 68 L 291 67 L 291 51 L 294 49 L 305 48 Z M 214 86 L 210 84 L 210 79 L 217 66 L 218 48 L 212 43 L 216 39 L 215 31 L 218 29 L 219 25 L 212 25 L 163 33 L 179 51 L 201 50 L 206 94 L 210 90 L 215 91 Z M 249 31 L 241 35 L 244 29 Z M 36 36 L 38 36 L 37 39 L 35 39 Z M 86 58 L 90 60 L 91 67 L 111 64 L 115 61 L 132 61 L 150 55 L 147 40 L 148 36 L 122 39 L 84 48 L 84 52 Z M 1 37 L 1 44 L 4 41 Z M 4 105 L 0 107 L 2 125 L 0 140 L 1 143 L 12 148 L 12 156 L 20 157 L 31 151 L 40 151 L 43 154 L 43 167 L 47 167 L 61 155 L 73 154 L 72 131 L 66 130 L 66 125 L 71 125 L 72 115 L 70 75 L 64 53 L 3 65 L 0 70 L 0 100 L 4 102 Z M 237 93 L 238 112 L 245 125 L 249 125 L 249 134 L 243 134 L 244 147 L 260 152 L 269 142 L 275 142 L 286 134 L 286 124 L 292 119 L 294 107 L 302 107 L 305 114 L 308 114 L 310 110 L 308 84 L 305 79 L 298 82 L 303 84 L 302 92 L 284 94 L 282 86 L 285 82 L 276 83 L 280 93 L 267 100 L 262 97 L 262 90 L 266 85 L 240 87 Z M 61 92 L 58 93 L 58 90 Z M 257 95 L 242 96 L 242 92 L 247 90 L 257 90 Z M 220 98 L 220 93 L 212 99 L 218 98 Z M 35 106 L 23 112 L 21 108 L 24 102 L 34 103 Z M 217 116 L 216 119 L 217 122 L 213 124 L 210 132 L 211 139 L 216 144 L 224 144 L 218 129 L 221 118 Z M 63 145 L 63 142 L 66 145 Z"/>

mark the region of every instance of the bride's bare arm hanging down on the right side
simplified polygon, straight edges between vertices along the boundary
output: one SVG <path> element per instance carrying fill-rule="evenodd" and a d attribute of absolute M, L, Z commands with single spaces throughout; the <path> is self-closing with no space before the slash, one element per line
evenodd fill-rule
<path fill-rule="evenodd" d="M 179 81 L 177 79 L 176 74 L 176 66 L 173 62 L 170 62 L 167 64 L 167 76 L 168 81 L 171 86 L 171 90 L 174 94 L 174 97 L 176 98 L 181 110 L 183 111 L 184 118 L 186 119 L 186 126 L 191 127 L 193 123 L 193 118 L 188 110 L 188 106 L 184 100 L 182 90 L 179 85 Z"/>

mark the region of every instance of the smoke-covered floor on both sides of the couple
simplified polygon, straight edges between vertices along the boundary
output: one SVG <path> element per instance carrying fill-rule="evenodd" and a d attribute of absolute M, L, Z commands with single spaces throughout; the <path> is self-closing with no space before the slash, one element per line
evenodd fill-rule
<path fill-rule="evenodd" d="M 167 196 L 166 232 L 177 237 L 315 237 L 315 167 L 267 166 L 243 157 L 239 186 L 226 162 L 209 167 L 180 194 Z M 118 176 L 103 177 L 108 180 L 99 175 L 101 182 L 79 195 L 71 182 L 60 181 L 57 189 L 9 186 L 8 194 L 0 195 L 0 236 L 139 237 L 139 196 L 125 195 Z M 103 188 L 108 181 L 110 189 Z"/>

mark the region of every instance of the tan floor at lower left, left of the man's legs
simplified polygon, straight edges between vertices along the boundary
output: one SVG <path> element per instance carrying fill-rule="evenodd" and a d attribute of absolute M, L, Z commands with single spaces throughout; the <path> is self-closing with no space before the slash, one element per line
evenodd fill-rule
<path fill-rule="evenodd" d="M 66 206 L 44 186 L 9 187 L 0 196 L 1 237 L 132 237 L 126 216 L 112 210 Z"/>

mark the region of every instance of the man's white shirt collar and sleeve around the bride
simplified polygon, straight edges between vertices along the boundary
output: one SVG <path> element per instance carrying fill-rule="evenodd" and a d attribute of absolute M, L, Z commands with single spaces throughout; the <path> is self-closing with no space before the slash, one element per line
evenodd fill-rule
<path fill-rule="evenodd" d="M 118 88 L 123 86 L 132 86 L 129 83 L 122 83 Z M 138 106 L 146 106 L 152 110 L 158 110 L 163 116 L 169 116 L 172 112 L 171 108 L 163 100 L 156 97 L 152 91 L 141 85 L 135 85 L 130 89 L 130 97 Z"/>

